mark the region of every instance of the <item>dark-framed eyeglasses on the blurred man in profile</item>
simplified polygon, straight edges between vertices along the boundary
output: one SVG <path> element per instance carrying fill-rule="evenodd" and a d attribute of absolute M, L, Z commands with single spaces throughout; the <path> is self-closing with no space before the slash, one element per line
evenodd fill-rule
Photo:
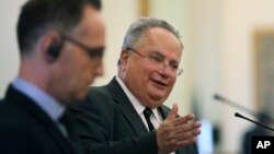
<path fill-rule="evenodd" d="M 87 51 L 87 54 L 89 55 L 90 58 L 99 58 L 101 59 L 104 55 L 104 47 L 94 47 L 94 48 L 91 48 L 78 40 L 76 40 L 75 38 L 68 36 L 68 35 L 65 35 L 65 34 L 61 34 L 61 38 L 64 40 L 68 40 L 77 46 L 79 46 L 80 48 L 82 48 L 84 51 Z"/>

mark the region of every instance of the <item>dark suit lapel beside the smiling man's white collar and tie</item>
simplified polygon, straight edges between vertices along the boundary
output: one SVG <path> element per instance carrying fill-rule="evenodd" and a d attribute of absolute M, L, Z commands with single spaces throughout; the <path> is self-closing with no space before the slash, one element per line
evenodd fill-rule
<path fill-rule="evenodd" d="M 109 83 L 107 87 L 118 109 L 122 111 L 127 122 L 134 129 L 136 135 L 140 137 L 142 134 L 147 134 L 148 130 L 146 126 L 141 121 L 140 116 L 138 115 L 134 106 L 132 105 L 130 100 L 128 99 L 123 88 L 117 83 L 117 81 L 113 79 Z"/>

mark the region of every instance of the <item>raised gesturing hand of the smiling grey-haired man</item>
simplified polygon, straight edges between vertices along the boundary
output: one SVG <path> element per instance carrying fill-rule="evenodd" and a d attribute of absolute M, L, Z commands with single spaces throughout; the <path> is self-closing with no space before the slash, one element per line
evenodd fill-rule
<path fill-rule="evenodd" d="M 193 144 L 201 133 L 201 123 L 194 120 L 195 116 L 189 114 L 178 118 L 178 105 L 174 104 L 168 117 L 157 129 L 157 143 L 159 154 L 169 154 L 175 150 Z"/>

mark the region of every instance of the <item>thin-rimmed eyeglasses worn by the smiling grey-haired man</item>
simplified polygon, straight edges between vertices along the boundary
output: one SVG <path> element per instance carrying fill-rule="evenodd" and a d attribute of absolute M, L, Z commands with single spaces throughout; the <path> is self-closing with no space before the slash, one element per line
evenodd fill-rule
<path fill-rule="evenodd" d="M 150 61 L 151 63 L 153 63 L 158 69 L 163 68 L 164 64 L 165 64 L 164 61 L 163 61 L 164 59 L 163 59 L 162 57 L 152 56 L 152 55 L 147 57 L 147 56 L 145 56 L 145 55 L 138 52 L 137 50 L 135 50 L 135 49 L 133 49 L 133 48 L 129 48 L 129 47 L 127 47 L 126 50 L 130 50 L 130 51 L 133 51 L 133 52 L 139 55 L 140 57 L 146 58 L 148 61 Z M 181 75 L 181 74 L 183 73 L 183 70 L 178 68 L 178 63 L 169 63 L 168 67 L 169 67 L 170 70 L 171 70 L 172 72 L 174 72 L 178 76 Z"/>

